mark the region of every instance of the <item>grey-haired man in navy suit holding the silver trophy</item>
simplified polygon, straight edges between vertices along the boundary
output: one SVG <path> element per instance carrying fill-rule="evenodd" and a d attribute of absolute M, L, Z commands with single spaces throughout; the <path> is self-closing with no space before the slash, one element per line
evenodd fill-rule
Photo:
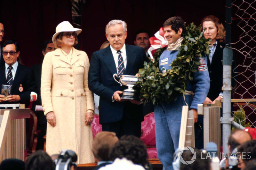
<path fill-rule="evenodd" d="M 143 48 L 124 44 L 127 37 L 126 23 L 112 20 L 106 26 L 110 46 L 92 54 L 88 85 L 100 96 L 100 124 L 103 131 L 112 131 L 117 137 L 140 137 L 143 121 L 142 105 L 136 101 L 122 100 L 124 86 L 120 86 L 113 74 L 135 75 L 147 60 Z"/>

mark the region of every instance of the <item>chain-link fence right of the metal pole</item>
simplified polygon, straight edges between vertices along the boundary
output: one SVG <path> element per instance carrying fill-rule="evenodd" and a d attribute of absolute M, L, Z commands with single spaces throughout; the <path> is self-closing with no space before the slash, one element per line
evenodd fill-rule
<path fill-rule="evenodd" d="M 244 127 L 256 126 L 256 1 L 232 2 L 231 46 L 236 59 L 236 86 L 233 92 L 232 116 Z M 236 99 L 236 100 L 234 100 Z"/>

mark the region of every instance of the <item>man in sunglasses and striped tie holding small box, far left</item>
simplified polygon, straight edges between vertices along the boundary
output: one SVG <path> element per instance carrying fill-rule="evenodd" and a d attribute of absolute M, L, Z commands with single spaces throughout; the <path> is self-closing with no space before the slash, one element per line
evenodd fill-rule
<path fill-rule="evenodd" d="M 17 62 L 20 55 L 19 44 L 16 41 L 5 41 L 1 51 L 5 64 L 0 68 L 0 85 L 11 85 L 11 95 L 5 98 L 1 94 L 0 102 L 1 104 L 22 103 L 28 107 L 31 101 L 30 93 L 35 92 L 35 83 L 28 77 L 29 68 Z"/>

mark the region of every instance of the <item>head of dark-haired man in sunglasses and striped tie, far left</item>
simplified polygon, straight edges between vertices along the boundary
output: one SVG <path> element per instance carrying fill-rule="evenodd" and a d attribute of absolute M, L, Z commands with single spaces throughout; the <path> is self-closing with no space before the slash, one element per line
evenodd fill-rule
<path fill-rule="evenodd" d="M 20 46 L 16 41 L 4 41 L 1 51 L 3 53 L 4 62 L 11 66 L 16 63 L 20 55 Z"/>

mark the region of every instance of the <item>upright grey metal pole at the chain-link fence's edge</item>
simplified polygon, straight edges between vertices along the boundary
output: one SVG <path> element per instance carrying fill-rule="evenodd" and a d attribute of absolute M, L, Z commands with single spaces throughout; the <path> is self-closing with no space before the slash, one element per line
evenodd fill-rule
<path fill-rule="evenodd" d="M 226 47 L 223 50 L 223 117 L 220 118 L 220 122 L 223 124 L 223 154 L 228 153 L 228 137 L 231 133 L 231 65 L 232 65 L 232 49 L 231 43 L 231 0 L 226 0 Z"/>

